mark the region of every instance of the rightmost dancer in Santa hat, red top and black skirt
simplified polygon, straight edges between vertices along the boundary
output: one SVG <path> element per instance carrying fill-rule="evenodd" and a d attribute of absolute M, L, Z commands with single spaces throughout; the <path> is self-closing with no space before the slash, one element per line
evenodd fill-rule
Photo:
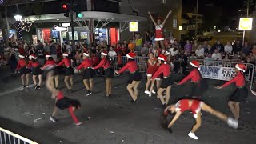
<path fill-rule="evenodd" d="M 248 90 L 246 88 L 246 81 L 244 76 L 244 73 L 246 72 L 246 66 L 244 64 L 237 64 L 235 65 L 234 70 L 237 75 L 233 79 L 231 79 L 229 82 L 226 82 L 223 86 L 215 87 L 217 89 L 222 89 L 235 82 L 237 88 L 231 95 L 228 105 L 230 106 L 230 110 L 234 115 L 234 118 L 238 120 L 240 118 L 240 102 L 245 102 L 246 98 L 248 97 Z"/>

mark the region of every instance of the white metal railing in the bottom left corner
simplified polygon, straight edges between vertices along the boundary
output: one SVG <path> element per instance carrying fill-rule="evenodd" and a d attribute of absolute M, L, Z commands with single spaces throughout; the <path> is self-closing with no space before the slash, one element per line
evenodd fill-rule
<path fill-rule="evenodd" d="M 18 134 L 0 127 L 0 144 L 38 144 Z"/>

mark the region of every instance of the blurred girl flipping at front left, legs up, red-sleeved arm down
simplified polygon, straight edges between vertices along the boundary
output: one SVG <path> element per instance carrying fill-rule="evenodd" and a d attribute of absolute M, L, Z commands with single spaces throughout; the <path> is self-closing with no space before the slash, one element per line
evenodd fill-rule
<path fill-rule="evenodd" d="M 74 111 L 77 109 L 80 109 L 81 107 L 80 102 L 75 99 L 66 98 L 64 97 L 63 92 L 61 90 L 54 89 L 54 86 L 51 85 L 52 84 L 51 78 L 53 77 L 53 73 L 54 73 L 53 71 L 48 72 L 46 77 L 46 88 L 50 90 L 51 98 L 55 100 L 54 111 L 50 116 L 50 121 L 58 122 L 58 120 L 55 118 L 58 108 L 61 110 L 68 109 L 75 124 L 77 126 L 81 125 L 82 122 L 78 122 L 78 118 L 76 118 L 76 116 L 74 115 Z"/>

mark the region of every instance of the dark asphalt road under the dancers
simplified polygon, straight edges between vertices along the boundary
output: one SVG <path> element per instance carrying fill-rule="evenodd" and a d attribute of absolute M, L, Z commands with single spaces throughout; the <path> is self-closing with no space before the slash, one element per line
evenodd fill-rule
<path fill-rule="evenodd" d="M 82 102 L 82 109 L 76 111 L 82 126 L 75 126 L 67 110 L 58 111 L 58 123 L 50 122 L 50 114 L 54 102 L 50 92 L 42 87 L 22 89 L 20 78 L 10 76 L 6 70 L 0 70 L 0 126 L 43 144 L 67 143 L 138 143 L 138 144 L 186 144 L 186 143 L 223 143 L 250 144 L 255 143 L 256 134 L 256 97 L 250 94 L 248 101 L 242 104 L 242 123 L 238 130 L 234 130 L 210 114 L 202 112 L 202 127 L 196 132 L 199 140 L 187 136 L 194 124 L 192 114 L 182 114 L 173 126 L 173 134 L 169 134 L 160 126 L 158 109 L 160 100 L 156 96 L 151 98 L 144 94 L 146 78 L 139 86 L 140 98 L 131 103 L 126 90 L 128 76 L 114 78 L 113 98 L 109 106 L 105 106 L 105 86 L 103 78 L 94 79 L 94 94 L 86 97 L 86 90 L 82 85 L 82 77 L 74 77 L 74 93 L 67 94 L 61 77 L 61 88 L 67 97 L 77 98 Z M 176 75 L 177 80 L 182 75 Z M 209 90 L 203 96 L 203 101 L 231 115 L 227 106 L 228 97 L 234 91 L 234 86 L 223 90 L 214 89 L 222 82 L 208 80 Z M 189 90 L 189 83 L 184 86 L 173 86 L 170 103 L 185 97 Z"/>

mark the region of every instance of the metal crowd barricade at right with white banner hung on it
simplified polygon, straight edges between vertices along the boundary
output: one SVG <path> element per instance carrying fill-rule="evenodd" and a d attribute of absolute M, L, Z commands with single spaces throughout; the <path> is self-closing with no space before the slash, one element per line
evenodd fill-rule
<path fill-rule="evenodd" d="M 200 72 L 203 78 L 218 79 L 229 81 L 234 78 L 234 66 L 241 62 L 224 62 L 224 61 L 212 61 L 206 59 L 198 59 L 200 63 Z M 245 79 L 247 83 L 250 83 L 250 90 L 254 82 L 254 65 L 251 63 L 243 63 L 246 65 Z"/>

